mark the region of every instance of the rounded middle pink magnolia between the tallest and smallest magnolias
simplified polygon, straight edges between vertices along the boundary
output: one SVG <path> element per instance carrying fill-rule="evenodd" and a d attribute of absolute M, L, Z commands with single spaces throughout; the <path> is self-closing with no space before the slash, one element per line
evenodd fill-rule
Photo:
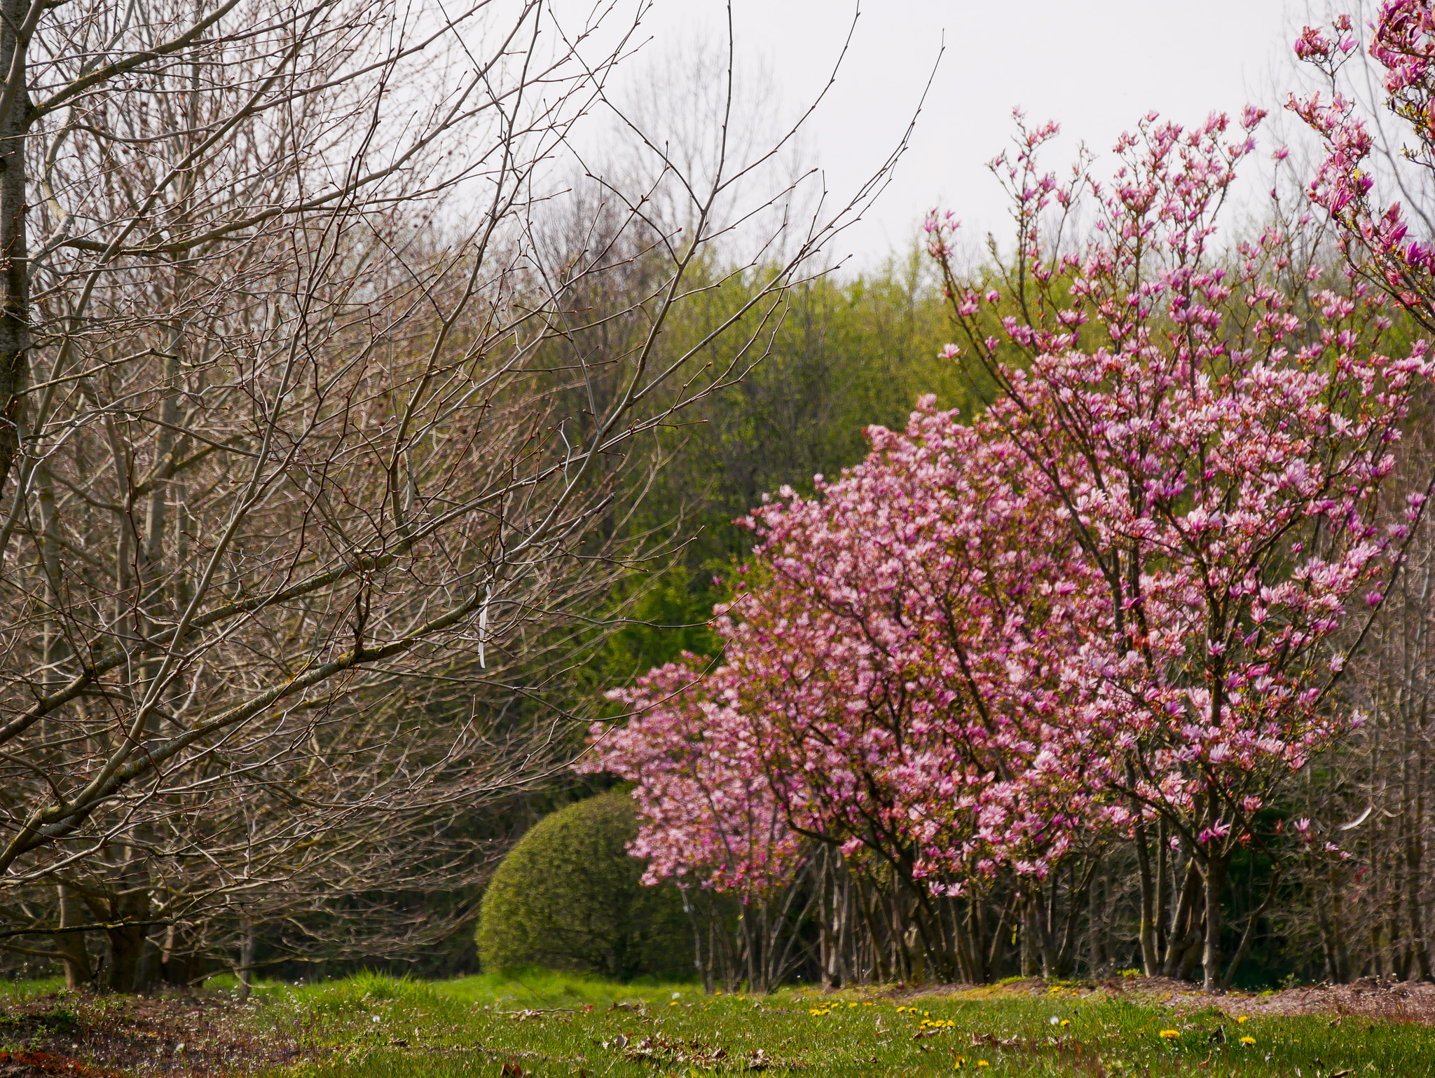
<path fill-rule="evenodd" d="M 1079 639 L 1076 548 L 1020 454 L 933 403 L 871 429 L 817 497 L 753 514 L 759 571 L 726 630 L 769 705 L 769 767 L 804 777 L 794 828 L 888 864 L 928 953 L 930 896 L 1003 864 L 1035 886 L 1099 789 L 1055 767 L 1081 755 L 1056 660 Z"/>

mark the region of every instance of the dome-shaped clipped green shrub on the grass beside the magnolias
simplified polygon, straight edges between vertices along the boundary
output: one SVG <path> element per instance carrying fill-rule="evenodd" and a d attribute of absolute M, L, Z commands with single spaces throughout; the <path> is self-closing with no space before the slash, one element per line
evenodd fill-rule
<path fill-rule="evenodd" d="M 620 792 L 544 817 L 494 874 L 478 919 L 488 972 L 547 966 L 617 980 L 690 975 L 692 930 L 670 883 L 644 887 L 629 856 L 633 800 Z"/>

